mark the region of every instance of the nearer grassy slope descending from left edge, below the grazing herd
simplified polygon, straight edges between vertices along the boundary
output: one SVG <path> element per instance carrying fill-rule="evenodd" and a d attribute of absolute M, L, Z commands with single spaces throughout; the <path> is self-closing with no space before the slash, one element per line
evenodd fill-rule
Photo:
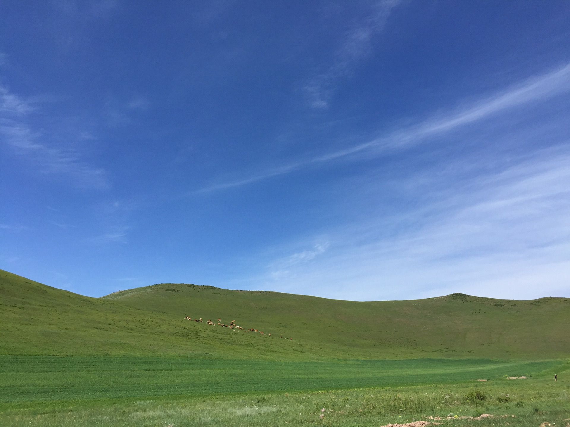
<path fill-rule="evenodd" d="M 290 359 L 290 347 L 194 327 L 176 315 L 84 297 L 0 270 L 0 355 Z"/>

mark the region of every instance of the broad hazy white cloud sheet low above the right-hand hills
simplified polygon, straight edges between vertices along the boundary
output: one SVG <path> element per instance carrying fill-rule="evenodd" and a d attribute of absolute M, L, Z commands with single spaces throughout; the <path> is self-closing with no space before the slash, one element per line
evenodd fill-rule
<path fill-rule="evenodd" d="M 285 273 L 271 263 L 250 283 L 360 300 L 570 296 L 568 182 L 570 145 L 536 151 L 442 192 L 420 211 L 331 230 L 327 253 Z"/>

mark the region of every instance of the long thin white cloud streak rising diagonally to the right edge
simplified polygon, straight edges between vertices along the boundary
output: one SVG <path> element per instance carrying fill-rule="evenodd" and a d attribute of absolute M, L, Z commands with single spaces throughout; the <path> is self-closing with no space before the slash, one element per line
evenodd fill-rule
<path fill-rule="evenodd" d="M 405 149 L 421 143 L 429 137 L 445 134 L 459 129 L 462 126 L 491 118 L 507 110 L 518 108 L 530 104 L 531 102 L 544 101 L 553 96 L 568 93 L 569 91 L 570 64 L 565 64 L 551 72 L 513 84 L 511 87 L 494 95 L 472 102 L 471 105 L 450 110 L 446 114 L 430 117 L 425 121 L 408 126 L 405 129 L 389 132 L 385 135 L 341 150 L 299 159 L 298 161 L 268 169 L 247 178 L 206 186 L 195 192 L 210 192 L 239 187 L 322 163 L 346 161 L 355 158 L 357 154 L 365 154 L 367 157 L 370 157 L 370 155 L 381 155 L 382 153 L 392 150 Z"/>

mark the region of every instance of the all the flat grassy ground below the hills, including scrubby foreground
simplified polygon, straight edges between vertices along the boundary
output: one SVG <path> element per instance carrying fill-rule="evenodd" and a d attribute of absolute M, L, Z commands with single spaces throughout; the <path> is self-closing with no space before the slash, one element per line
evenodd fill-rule
<path fill-rule="evenodd" d="M 450 426 L 565 426 L 570 418 L 570 364 L 563 361 L 1 361 L 2 426 L 366 427 L 429 417 Z M 461 418 L 483 413 L 493 417 Z"/>

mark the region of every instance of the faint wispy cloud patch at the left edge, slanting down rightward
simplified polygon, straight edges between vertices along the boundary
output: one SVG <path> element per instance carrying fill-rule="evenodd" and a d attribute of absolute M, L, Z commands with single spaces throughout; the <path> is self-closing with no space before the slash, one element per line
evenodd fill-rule
<path fill-rule="evenodd" d="M 28 158 L 40 173 L 66 176 L 82 188 L 109 186 L 107 171 L 89 165 L 71 143 L 50 142 L 54 136 L 36 128 L 31 113 L 40 113 L 37 102 L 0 86 L 0 142 Z"/>

